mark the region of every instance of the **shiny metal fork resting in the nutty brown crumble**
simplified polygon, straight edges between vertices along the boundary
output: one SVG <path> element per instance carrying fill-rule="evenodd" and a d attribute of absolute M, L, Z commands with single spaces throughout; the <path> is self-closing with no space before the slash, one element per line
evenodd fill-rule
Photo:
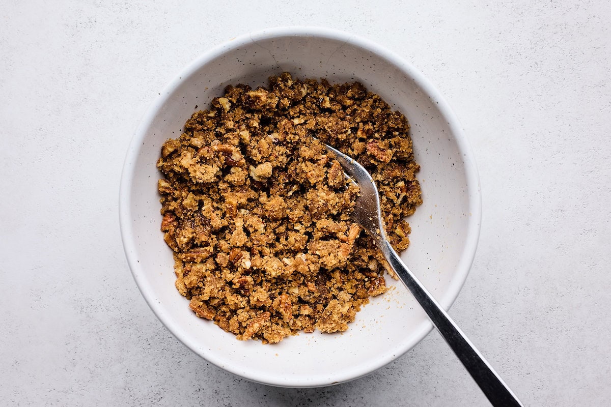
<path fill-rule="evenodd" d="M 511 389 L 503 382 L 497 372 L 492 369 L 488 361 L 475 348 L 471 341 L 458 328 L 450 315 L 437 303 L 435 298 L 426 290 L 414 273 L 403 264 L 397 252 L 390 245 L 384 231 L 378 189 L 371 175 L 356 160 L 346 156 L 341 151 L 326 145 L 327 151 L 337 156 L 342 165 L 344 173 L 348 178 L 359 185 L 360 195 L 356 200 L 356 206 L 351 215 L 354 222 L 359 223 L 365 231 L 373 237 L 376 245 L 384 254 L 390 267 L 395 270 L 403 284 L 408 287 L 414 298 L 420 303 L 437 331 L 444 337 L 445 342 L 450 345 L 458 359 L 466 367 L 475 383 L 480 386 L 488 400 L 494 407 L 515 407 L 522 403 L 513 394 Z"/>

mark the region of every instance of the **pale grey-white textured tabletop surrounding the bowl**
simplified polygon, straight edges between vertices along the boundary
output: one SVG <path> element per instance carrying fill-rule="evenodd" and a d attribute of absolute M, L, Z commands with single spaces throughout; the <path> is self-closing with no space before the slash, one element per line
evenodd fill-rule
<path fill-rule="evenodd" d="M 450 314 L 525 405 L 606 405 L 611 5 L 303 4 L 4 2 L 2 403 L 487 405 L 436 333 L 351 383 L 252 384 L 188 351 L 136 289 L 117 195 L 148 103 L 212 45 L 309 24 L 356 32 L 408 58 L 463 121 L 480 170 L 483 225 Z"/>

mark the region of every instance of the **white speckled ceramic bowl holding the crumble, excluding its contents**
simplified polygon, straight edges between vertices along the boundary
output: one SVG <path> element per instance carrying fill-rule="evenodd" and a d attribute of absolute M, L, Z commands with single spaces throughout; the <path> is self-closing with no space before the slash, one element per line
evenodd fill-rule
<path fill-rule="evenodd" d="M 402 258 L 449 308 L 467 277 L 480 231 L 480 185 L 471 150 L 454 113 L 419 71 L 345 32 L 269 29 L 235 38 L 186 67 L 148 109 L 133 137 L 120 187 L 120 226 L 142 295 L 197 355 L 260 383 L 327 386 L 373 372 L 430 332 L 431 323 L 407 289 L 387 278 L 389 292 L 362 308 L 344 333 L 301 333 L 276 345 L 242 342 L 191 312 L 174 287 L 172 253 L 159 231 L 155 162 L 164 140 L 180 135 L 191 114 L 207 108 L 226 85 L 267 85 L 268 76 L 282 71 L 332 83 L 360 81 L 408 117 L 424 203 L 409 217 L 411 246 Z"/>

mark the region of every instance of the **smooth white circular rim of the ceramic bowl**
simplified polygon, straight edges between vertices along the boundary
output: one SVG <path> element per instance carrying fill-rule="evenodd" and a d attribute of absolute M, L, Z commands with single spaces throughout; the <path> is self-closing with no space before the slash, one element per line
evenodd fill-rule
<path fill-rule="evenodd" d="M 304 383 L 302 380 L 291 380 L 288 375 L 280 374 L 274 377 L 266 375 L 265 377 L 262 377 L 261 375 L 257 374 L 249 374 L 249 372 L 244 372 L 244 370 L 241 370 L 238 366 L 233 366 L 233 364 L 227 363 L 227 361 L 214 353 L 203 355 L 202 353 L 196 351 L 197 345 L 191 343 L 192 341 L 185 336 L 183 329 L 178 326 L 178 324 L 172 323 L 172 319 L 170 319 L 169 315 L 164 311 L 164 306 L 161 303 L 158 303 L 158 301 L 154 300 L 151 287 L 145 284 L 145 271 L 142 270 L 136 259 L 136 241 L 134 238 L 136 235 L 133 231 L 132 222 L 130 220 L 130 185 L 133 182 L 134 173 L 136 170 L 133 163 L 136 162 L 137 155 L 139 154 L 139 147 L 144 142 L 145 136 L 147 135 L 147 129 L 152 124 L 160 108 L 180 86 L 183 78 L 191 76 L 191 74 L 199 70 L 202 65 L 205 65 L 205 63 L 218 56 L 221 56 L 231 49 L 240 48 L 240 46 L 246 45 L 247 43 L 256 42 L 258 40 L 268 40 L 281 37 L 322 37 L 329 40 L 343 41 L 353 46 L 368 49 L 382 59 L 386 59 L 388 62 L 392 63 L 392 65 L 395 65 L 408 77 L 411 77 L 412 80 L 423 89 L 426 95 L 438 102 L 437 107 L 439 108 L 439 112 L 447 121 L 449 128 L 452 129 L 452 133 L 455 135 L 455 141 L 456 145 L 458 146 L 459 153 L 461 153 L 461 155 L 464 157 L 465 176 L 467 179 L 467 196 L 471 214 L 467 220 L 467 234 L 466 239 L 464 240 L 463 255 L 456 266 L 455 274 L 452 277 L 452 281 L 450 282 L 447 291 L 444 293 L 442 298 L 437 298 L 444 309 L 447 310 L 452 306 L 456 298 L 458 298 L 458 294 L 464 286 L 464 283 L 466 282 L 467 275 L 469 274 L 470 267 L 475 258 L 475 252 L 477 250 L 477 244 L 480 236 L 481 185 L 473 151 L 469 141 L 466 138 L 466 135 L 464 134 L 463 126 L 461 126 L 458 117 L 456 117 L 444 96 L 441 95 L 441 93 L 436 87 L 434 87 L 429 79 L 426 79 L 426 77 L 413 65 L 411 65 L 411 63 L 403 59 L 403 57 L 398 56 L 398 54 L 395 54 L 395 52 L 390 51 L 389 49 L 386 49 L 377 43 L 368 40 L 367 38 L 363 38 L 359 35 L 345 31 L 316 26 L 286 26 L 264 29 L 262 31 L 255 31 L 240 35 L 239 37 L 232 38 L 231 40 L 225 41 L 218 46 L 214 46 L 208 51 L 200 54 L 198 57 L 196 57 L 196 59 L 192 60 L 191 63 L 186 65 L 186 67 L 183 68 L 166 85 L 166 87 L 164 87 L 163 91 L 156 96 L 150 106 L 148 106 L 131 138 L 128 151 L 126 152 L 125 160 L 123 162 L 123 170 L 120 180 L 119 226 L 125 256 L 134 281 L 136 281 L 136 285 L 140 290 L 142 297 L 144 297 L 144 300 L 152 309 L 156 317 L 163 323 L 164 326 L 166 326 L 167 330 L 169 330 L 172 335 L 180 340 L 180 342 L 182 342 L 191 351 L 208 362 L 211 362 L 215 366 L 220 367 L 221 369 L 257 383 L 281 387 L 329 386 L 331 384 L 354 380 L 356 378 L 365 376 L 368 373 L 374 372 L 383 366 L 386 366 L 390 362 L 399 358 L 401 355 L 404 355 L 404 353 L 407 351 L 414 348 L 415 345 L 419 344 L 419 342 L 422 341 L 422 339 L 424 339 L 433 329 L 433 324 L 429 320 L 426 320 L 424 325 L 420 324 L 419 329 L 415 330 L 414 334 L 412 334 L 412 340 L 406 342 L 404 347 L 398 350 L 397 353 L 392 353 L 392 355 L 389 355 L 386 358 L 378 358 L 367 364 L 359 365 L 360 369 L 349 370 L 349 374 L 345 374 L 344 376 L 334 376 L 333 382 L 329 381 L 328 376 L 323 374 L 318 375 L 316 378 L 312 378 L 312 380 L 309 380 L 307 383 Z"/>

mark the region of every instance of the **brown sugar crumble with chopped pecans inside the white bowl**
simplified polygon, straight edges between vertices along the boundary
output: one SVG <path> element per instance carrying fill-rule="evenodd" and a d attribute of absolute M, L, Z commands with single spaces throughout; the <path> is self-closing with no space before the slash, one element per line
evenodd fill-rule
<path fill-rule="evenodd" d="M 167 140 L 157 167 L 161 230 L 192 311 L 238 339 L 345 331 L 386 292 L 386 261 L 349 218 L 359 188 L 334 146 L 376 181 L 390 242 L 422 203 L 408 120 L 359 82 L 288 73 L 225 88 Z M 313 139 L 316 137 L 316 140 Z"/>

